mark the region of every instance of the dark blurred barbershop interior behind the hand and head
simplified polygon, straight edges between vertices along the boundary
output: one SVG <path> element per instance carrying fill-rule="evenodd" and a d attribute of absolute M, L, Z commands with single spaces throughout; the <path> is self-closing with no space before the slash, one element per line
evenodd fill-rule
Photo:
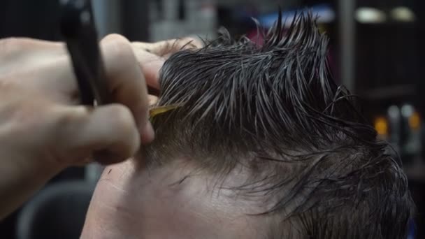
<path fill-rule="evenodd" d="M 131 41 L 214 38 L 224 26 L 254 38 L 251 17 L 268 28 L 278 7 L 291 19 L 306 6 L 331 38 L 338 84 L 362 99 L 370 124 L 401 155 L 417 204 L 412 238 L 425 238 L 425 2 L 422 0 L 94 0 L 100 36 Z M 57 0 L 0 2 L 0 38 L 62 40 Z M 101 167 L 70 168 L 0 222 L 0 238 L 78 238 Z"/>

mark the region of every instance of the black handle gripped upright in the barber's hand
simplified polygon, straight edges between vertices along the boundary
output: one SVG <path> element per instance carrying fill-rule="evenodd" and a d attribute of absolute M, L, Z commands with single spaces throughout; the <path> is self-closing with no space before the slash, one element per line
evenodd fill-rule
<path fill-rule="evenodd" d="M 60 27 L 71 55 L 82 104 L 93 106 L 94 100 L 98 105 L 111 103 L 91 2 L 63 0 L 60 6 Z"/>

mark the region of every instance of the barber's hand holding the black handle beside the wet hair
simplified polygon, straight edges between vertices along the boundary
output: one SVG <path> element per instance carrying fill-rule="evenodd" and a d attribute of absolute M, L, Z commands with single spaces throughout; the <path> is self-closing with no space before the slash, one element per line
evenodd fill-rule
<path fill-rule="evenodd" d="M 62 169 L 92 157 L 117 163 L 150 142 L 146 82 L 158 87 L 164 55 L 189 41 L 131 44 L 118 35 L 104 38 L 106 84 L 115 103 L 92 108 L 78 106 L 63 43 L 0 40 L 0 219 Z"/>

